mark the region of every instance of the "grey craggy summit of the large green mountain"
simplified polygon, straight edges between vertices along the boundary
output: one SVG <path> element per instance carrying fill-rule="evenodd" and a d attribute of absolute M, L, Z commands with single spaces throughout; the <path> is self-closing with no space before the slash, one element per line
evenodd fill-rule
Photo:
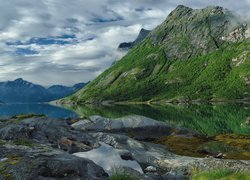
<path fill-rule="evenodd" d="M 222 7 L 191 9 L 180 5 L 150 37 L 154 45 L 164 46 L 166 58 L 188 59 L 221 47 L 221 37 L 238 26 L 237 18 Z"/>

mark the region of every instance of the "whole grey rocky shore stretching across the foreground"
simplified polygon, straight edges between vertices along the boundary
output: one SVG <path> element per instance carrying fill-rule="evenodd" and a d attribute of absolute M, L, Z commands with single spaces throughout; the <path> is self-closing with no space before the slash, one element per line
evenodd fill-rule
<path fill-rule="evenodd" d="M 142 116 L 2 118 L 0 179 L 108 179 L 114 168 L 139 179 L 184 179 L 194 170 L 222 167 L 250 171 L 250 161 L 180 156 L 152 143 L 152 139 L 173 134 L 199 136 Z M 114 155 L 119 161 L 111 161 Z M 125 167 L 124 163 L 132 165 Z"/>

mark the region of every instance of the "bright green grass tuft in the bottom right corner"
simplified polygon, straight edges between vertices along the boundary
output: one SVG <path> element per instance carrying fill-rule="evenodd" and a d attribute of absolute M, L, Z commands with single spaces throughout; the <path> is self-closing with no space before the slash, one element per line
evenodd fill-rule
<path fill-rule="evenodd" d="M 193 180 L 250 180 L 250 173 L 234 172 L 228 169 L 200 172 L 192 176 Z"/>

